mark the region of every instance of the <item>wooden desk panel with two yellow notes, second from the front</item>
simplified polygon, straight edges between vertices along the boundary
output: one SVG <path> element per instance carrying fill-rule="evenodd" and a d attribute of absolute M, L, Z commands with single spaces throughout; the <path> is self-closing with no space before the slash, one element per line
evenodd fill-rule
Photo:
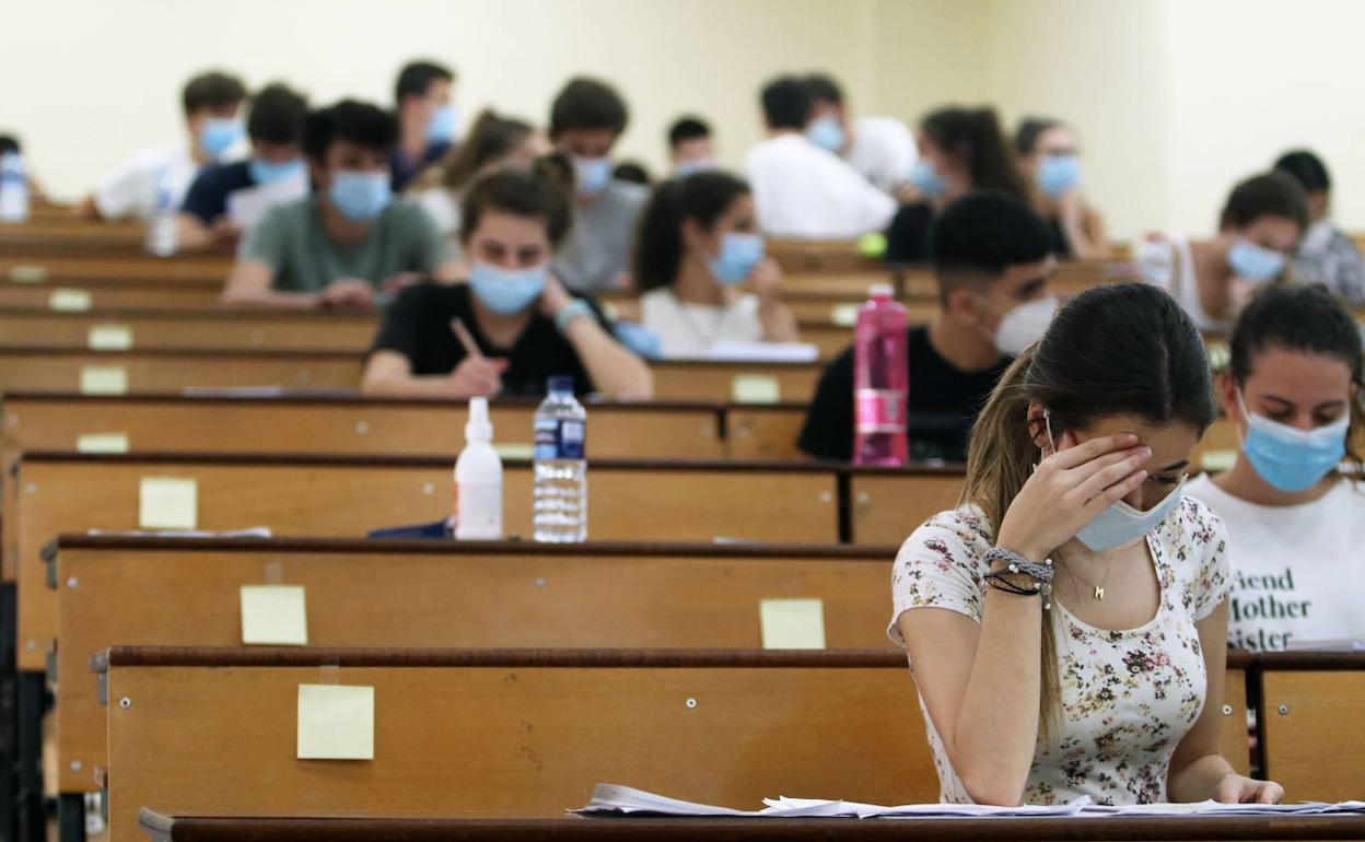
<path fill-rule="evenodd" d="M 891 648 L 894 547 L 175 539 L 64 535 L 53 792 L 96 792 L 113 644 L 242 644 L 244 584 L 306 588 L 319 647 L 759 648 L 763 599 L 820 599 L 830 648 Z M 1244 744 L 1245 745 L 1245 744 Z"/>

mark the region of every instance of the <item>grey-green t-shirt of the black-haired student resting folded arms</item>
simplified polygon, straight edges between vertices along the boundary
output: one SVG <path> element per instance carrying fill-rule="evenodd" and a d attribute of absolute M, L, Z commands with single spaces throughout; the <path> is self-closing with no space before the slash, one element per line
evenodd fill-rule
<path fill-rule="evenodd" d="M 280 292 L 321 292 L 336 280 L 382 284 L 400 272 L 429 274 L 449 258 L 435 222 L 411 199 L 396 198 L 379 212 L 370 233 L 341 246 L 322 228 L 317 197 L 268 210 L 238 247 L 238 259 L 261 261 L 274 272 Z"/>

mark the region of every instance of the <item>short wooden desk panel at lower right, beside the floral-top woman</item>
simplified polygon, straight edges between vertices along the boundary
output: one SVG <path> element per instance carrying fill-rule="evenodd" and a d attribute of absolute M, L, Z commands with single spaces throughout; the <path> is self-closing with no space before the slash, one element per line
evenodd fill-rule
<path fill-rule="evenodd" d="M 1264 768 L 1284 800 L 1361 798 L 1365 652 L 1267 652 L 1257 663 Z"/>

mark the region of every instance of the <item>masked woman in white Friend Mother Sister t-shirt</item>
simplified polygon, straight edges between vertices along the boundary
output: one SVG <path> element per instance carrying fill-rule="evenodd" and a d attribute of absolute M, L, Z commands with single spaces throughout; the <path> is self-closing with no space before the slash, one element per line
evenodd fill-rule
<path fill-rule="evenodd" d="M 1349 584 L 1365 580 L 1361 358 L 1355 319 L 1317 287 L 1267 287 L 1237 319 L 1219 393 L 1242 446 L 1189 484 L 1227 523 L 1228 645 L 1365 640 Z"/>

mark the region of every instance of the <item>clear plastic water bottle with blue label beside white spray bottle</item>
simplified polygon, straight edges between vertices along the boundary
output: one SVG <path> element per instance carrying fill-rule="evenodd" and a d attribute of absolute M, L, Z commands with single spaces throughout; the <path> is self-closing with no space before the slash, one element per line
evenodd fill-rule
<path fill-rule="evenodd" d="M 572 377 L 551 377 L 535 411 L 535 539 L 580 543 L 588 538 L 587 409 Z"/>

